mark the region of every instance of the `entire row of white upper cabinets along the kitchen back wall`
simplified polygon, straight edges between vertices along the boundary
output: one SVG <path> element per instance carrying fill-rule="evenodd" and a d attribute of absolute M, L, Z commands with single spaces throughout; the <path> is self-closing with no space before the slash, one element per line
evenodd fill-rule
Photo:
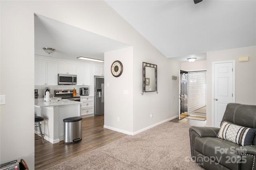
<path fill-rule="evenodd" d="M 76 86 L 91 86 L 94 75 L 104 76 L 104 64 L 35 55 L 36 86 L 58 86 L 58 74 L 75 74 L 77 75 Z"/>

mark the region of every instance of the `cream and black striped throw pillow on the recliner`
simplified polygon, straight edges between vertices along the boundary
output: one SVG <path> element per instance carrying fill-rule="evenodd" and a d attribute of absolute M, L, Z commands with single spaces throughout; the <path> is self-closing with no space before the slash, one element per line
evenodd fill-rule
<path fill-rule="evenodd" d="M 242 127 L 223 121 L 220 125 L 218 137 L 241 146 L 252 145 L 256 129 Z"/>

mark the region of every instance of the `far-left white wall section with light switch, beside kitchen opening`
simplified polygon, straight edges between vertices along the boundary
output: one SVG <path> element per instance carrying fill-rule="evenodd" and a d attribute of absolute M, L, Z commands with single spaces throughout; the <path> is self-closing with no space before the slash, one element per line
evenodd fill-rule
<path fill-rule="evenodd" d="M 34 13 L 31 2 L 0 3 L 0 163 L 24 158 L 34 169 Z"/>

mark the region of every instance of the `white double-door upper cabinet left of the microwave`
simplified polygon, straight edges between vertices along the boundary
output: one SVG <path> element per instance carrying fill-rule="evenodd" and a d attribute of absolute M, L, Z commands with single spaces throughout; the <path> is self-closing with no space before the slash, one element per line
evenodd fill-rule
<path fill-rule="evenodd" d="M 35 85 L 58 85 L 58 62 L 35 59 Z"/>

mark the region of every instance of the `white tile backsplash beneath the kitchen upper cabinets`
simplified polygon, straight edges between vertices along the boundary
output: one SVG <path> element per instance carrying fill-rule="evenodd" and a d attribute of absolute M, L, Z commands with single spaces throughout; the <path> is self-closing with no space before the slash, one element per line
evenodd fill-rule
<path fill-rule="evenodd" d="M 89 88 L 89 96 L 94 96 L 94 86 L 72 86 L 72 85 L 58 85 L 58 86 L 35 86 L 35 89 L 38 89 L 38 98 L 44 97 L 44 89 L 48 87 L 52 90 L 52 93 L 50 93 L 50 97 L 54 97 L 54 90 L 72 90 L 76 89 L 76 93 L 79 94 L 79 89 L 82 87 L 88 87 Z"/>

